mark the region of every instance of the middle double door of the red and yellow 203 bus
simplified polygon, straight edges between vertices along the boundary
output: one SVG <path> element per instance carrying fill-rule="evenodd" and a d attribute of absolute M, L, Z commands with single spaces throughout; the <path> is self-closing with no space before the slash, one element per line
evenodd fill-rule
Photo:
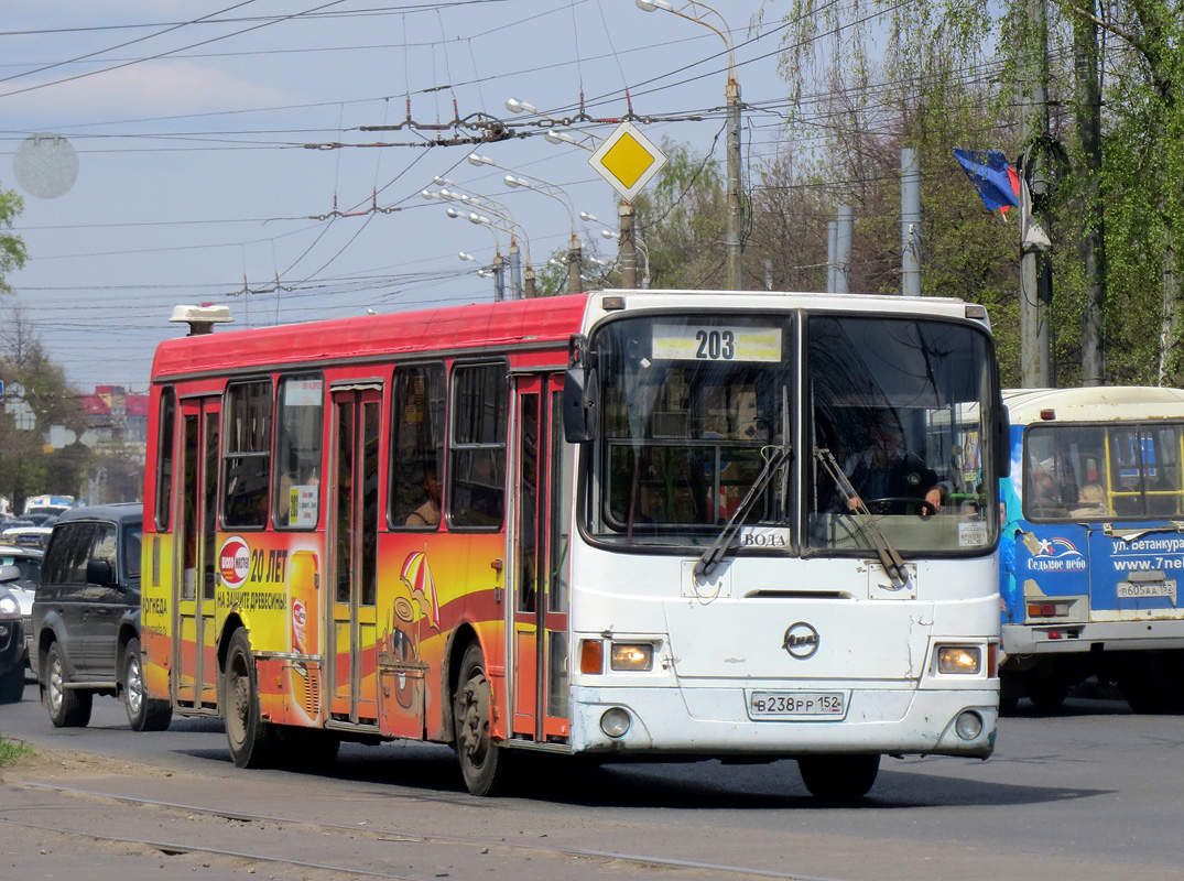
<path fill-rule="evenodd" d="M 381 388 L 333 390 L 330 714 L 378 724 L 378 464 Z"/>

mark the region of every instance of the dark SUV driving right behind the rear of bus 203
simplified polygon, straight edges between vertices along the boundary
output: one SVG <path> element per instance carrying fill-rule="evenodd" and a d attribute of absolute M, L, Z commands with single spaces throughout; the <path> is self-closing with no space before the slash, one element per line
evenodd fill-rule
<path fill-rule="evenodd" d="M 85 726 L 96 694 L 118 696 L 136 731 L 163 731 L 172 719 L 168 701 L 149 699 L 143 688 L 142 523 L 136 502 L 72 508 L 53 525 L 33 600 L 30 661 L 59 728 Z"/>

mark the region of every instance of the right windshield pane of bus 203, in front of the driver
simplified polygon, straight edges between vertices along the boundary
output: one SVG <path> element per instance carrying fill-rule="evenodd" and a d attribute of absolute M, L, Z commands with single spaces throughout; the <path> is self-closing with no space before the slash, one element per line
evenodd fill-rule
<path fill-rule="evenodd" d="M 998 506 L 990 347 L 967 324 L 813 317 L 811 553 L 982 553 Z"/>

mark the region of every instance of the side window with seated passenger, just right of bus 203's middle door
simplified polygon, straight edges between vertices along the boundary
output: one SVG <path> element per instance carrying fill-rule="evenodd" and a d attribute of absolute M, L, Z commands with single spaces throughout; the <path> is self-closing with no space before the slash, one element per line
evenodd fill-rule
<path fill-rule="evenodd" d="M 391 403 L 391 528 L 439 527 L 444 485 L 444 365 L 394 371 Z"/>

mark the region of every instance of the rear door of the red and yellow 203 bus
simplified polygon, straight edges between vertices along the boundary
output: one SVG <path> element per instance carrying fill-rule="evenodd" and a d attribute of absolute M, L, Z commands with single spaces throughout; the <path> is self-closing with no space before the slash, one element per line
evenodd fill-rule
<path fill-rule="evenodd" d="M 180 559 L 173 572 L 173 680 L 176 703 L 218 710 L 218 429 L 221 400 L 181 401 L 181 467 L 175 497 L 181 509 Z"/>

